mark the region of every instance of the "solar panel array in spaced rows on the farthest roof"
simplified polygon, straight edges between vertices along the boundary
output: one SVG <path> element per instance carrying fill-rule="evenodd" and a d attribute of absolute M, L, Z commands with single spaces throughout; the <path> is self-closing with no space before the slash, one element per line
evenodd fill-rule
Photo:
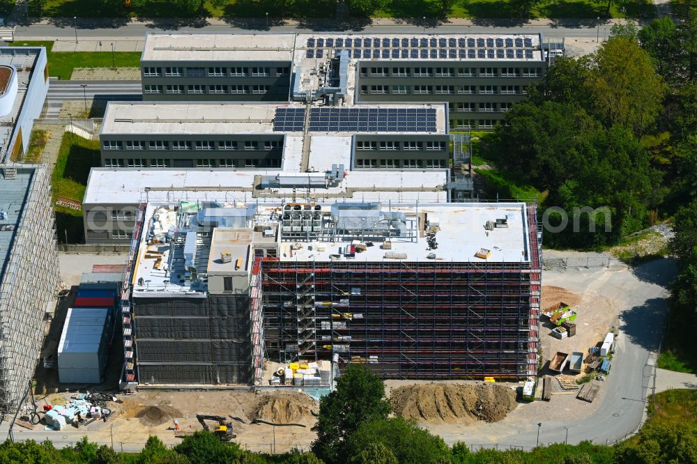
<path fill-rule="evenodd" d="M 346 49 L 353 59 L 533 59 L 531 38 L 348 37 L 308 38 L 306 58 Z"/>

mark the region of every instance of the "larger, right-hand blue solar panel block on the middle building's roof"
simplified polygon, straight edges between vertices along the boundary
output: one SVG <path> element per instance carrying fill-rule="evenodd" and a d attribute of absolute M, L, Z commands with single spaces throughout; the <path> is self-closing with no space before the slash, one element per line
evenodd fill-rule
<path fill-rule="evenodd" d="M 312 132 L 436 132 L 433 108 L 313 108 Z"/>

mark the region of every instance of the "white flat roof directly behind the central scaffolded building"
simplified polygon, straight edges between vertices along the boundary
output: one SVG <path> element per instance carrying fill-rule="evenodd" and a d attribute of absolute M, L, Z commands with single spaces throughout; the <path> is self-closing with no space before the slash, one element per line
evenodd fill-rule
<path fill-rule="evenodd" d="M 314 139 L 314 137 L 313 137 Z M 318 152 L 319 153 L 319 152 Z M 319 156 L 319 155 L 318 155 Z M 328 161 L 336 163 L 333 157 Z M 318 164 L 321 160 L 317 161 Z M 346 166 L 348 169 L 348 166 Z M 318 170 L 320 170 L 318 168 Z M 274 188 L 275 197 L 253 195 L 255 176 L 276 176 L 279 171 L 243 169 L 93 168 L 83 203 L 137 204 L 147 201 L 279 201 L 302 196 L 307 189 Z M 337 187 L 313 188 L 311 194 L 351 201 L 447 202 L 447 169 L 348 171 Z M 299 191 L 302 190 L 302 193 Z"/>

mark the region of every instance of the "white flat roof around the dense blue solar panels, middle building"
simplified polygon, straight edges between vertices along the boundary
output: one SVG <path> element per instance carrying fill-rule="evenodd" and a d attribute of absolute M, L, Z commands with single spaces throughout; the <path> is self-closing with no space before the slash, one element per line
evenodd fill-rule
<path fill-rule="evenodd" d="M 238 102 L 109 102 L 102 120 L 102 135 L 151 134 L 292 134 L 273 129 L 277 108 L 305 108 L 288 103 Z M 445 103 L 360 104 L 360 109 L 429 108 L 436 110 L 436 132 L 447 132 Z M 316 134 L 318 132 L 311 132 Z M 346 134 L 345 132 L 323 132 Z M 361 132 L 361 134 L 425 134 L 429 132 Z"/>

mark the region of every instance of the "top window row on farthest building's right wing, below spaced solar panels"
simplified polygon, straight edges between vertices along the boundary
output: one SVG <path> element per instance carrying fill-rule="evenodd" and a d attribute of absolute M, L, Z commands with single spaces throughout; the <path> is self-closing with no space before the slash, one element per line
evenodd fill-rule
<path fill-rule="evenodd" d="M 540 68 L 360 68 L 362 77 L 541 77 Z"/>

